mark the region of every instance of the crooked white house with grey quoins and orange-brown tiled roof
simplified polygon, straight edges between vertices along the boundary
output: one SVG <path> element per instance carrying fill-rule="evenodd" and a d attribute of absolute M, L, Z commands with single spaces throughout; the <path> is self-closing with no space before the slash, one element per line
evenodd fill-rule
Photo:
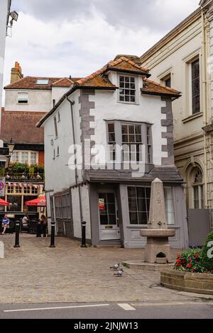
<path fill-rule="evenodd" d="M 58 235 L 95 246 L 143 248 L 151 182 L 165 188 L 165 209 L 187 247 L 183 181 L 174 162 L 172 101 L 180 92 L 148 79 L 148 69 L 119 56 L 75 81 L 38 123 L 45 132 L 45 192 L 48 221 Z"/>

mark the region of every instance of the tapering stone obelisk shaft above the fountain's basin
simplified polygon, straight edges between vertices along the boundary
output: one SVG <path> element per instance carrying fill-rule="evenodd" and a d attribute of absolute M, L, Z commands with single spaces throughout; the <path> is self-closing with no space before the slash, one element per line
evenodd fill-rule
<path fill-rule="evenodd" d="M 148 228 L 167 229 L 163 182 L 158 178 L 152 182 Z"/>

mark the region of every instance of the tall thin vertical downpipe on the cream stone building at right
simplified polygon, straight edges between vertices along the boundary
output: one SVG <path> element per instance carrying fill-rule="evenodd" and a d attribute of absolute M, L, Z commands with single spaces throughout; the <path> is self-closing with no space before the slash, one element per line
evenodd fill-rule
<path fill-rule="evenodd" d="M 202 111 L 204 114 L 204 126 L 207 125 L 207 67 L 206 67 L 206 38 L 204 9 L 201 9 L 202 16 Z M 204 208 L 208 207 L 207 192 L 207 135 L 204 133 Z"/>

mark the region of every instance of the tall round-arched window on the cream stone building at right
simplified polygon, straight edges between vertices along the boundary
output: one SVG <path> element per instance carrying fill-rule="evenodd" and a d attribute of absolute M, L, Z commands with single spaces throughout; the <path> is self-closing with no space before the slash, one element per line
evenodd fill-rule
<path fill-rule="evenodd" d="M 194 192 L 194 208 L 202 209 L 204 208 L 204 185 L 202 170 L 200 168 L 194 169 L 192 172 L 192 184 Z"/>

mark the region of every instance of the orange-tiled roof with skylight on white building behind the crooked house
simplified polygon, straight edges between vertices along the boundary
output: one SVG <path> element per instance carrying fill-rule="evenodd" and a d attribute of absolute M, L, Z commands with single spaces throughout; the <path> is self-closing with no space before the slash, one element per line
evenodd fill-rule
<path fill-rule="evenodd" d="M 39 79 L 46 79 L 48 80 L 48 84 L 36 84 Z M 65 84 L 70 81 L 70 85 L 77 81 L 79 78 L 72 78 L 72 81 L 68 78 L 61 78 L 61 77 L 24 77 L 23 79 L 13 82 L 13 84 L 9 84 L 5 86 L 5 89 L 36 89 L 36 90 L 51 90 L 52 85 L 55 82 L 58 82 L 58 86 L 65 86 Z"/>

